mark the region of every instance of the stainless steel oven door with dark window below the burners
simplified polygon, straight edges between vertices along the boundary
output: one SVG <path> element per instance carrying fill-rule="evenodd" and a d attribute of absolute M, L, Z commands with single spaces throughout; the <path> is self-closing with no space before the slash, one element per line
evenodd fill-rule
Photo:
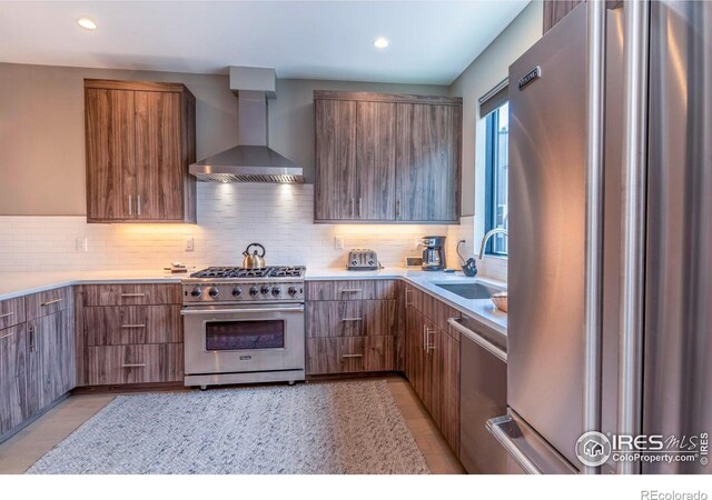
<path fill-rule="evenodd" d="M 182 310 L 186 376 L 304 370 L 304 306 Z"/>

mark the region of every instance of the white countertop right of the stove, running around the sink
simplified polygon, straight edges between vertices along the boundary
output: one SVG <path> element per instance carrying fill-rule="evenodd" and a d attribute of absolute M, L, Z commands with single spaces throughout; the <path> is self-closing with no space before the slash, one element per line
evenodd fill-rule
<path fill-rule="evenodd" d="M 495 288 L 506 290 L 506 283 L 488 278 L 468 278 L 462 271 L 455 273 L 443 271 L 421 271 L 407 268 L 384 268 L 377 271 L 348 271 L 346 269 L 307 269 L 306 280 L 389 280 L 403 279 L 421 290 L 436 297 L 464 314 L 474 318 L 487 327 L 506 334 L 507 314 L 500 311 L 490 299 L 465 299 L 449 292 L 436 283 L 472 283 L 479 281 Z"/>

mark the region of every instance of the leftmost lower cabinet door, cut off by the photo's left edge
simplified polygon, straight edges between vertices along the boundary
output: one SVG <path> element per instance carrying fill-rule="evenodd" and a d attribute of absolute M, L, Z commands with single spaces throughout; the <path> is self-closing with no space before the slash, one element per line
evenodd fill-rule
<path fill-rule="evenodd" d="M 24 323 L 0 330 L 0 436 L 26 418 L 26 342 Z"/>

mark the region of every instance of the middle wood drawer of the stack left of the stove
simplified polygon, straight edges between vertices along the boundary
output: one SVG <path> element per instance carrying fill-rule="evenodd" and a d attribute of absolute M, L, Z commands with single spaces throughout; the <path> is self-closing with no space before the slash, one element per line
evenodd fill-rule
<path fill-rule="evenodd" d="M 182 342 L 180 306 L 85 308 L 87 346 Z"/>

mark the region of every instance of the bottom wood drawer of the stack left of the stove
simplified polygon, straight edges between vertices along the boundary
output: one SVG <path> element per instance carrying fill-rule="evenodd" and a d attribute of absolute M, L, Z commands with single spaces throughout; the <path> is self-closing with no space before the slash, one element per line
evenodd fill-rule
<path fill-rule="evenodd" d="M 87 348 L 89 386 L 182 380 L 182 343 Z"/>

